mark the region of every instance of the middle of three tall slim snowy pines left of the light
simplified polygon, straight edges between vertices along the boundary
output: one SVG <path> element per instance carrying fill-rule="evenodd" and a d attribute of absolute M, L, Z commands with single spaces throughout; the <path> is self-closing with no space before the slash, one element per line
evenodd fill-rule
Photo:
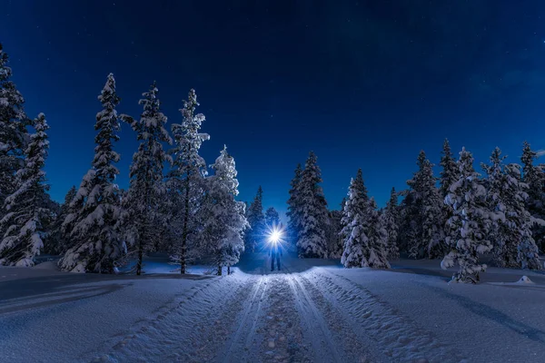
<path fill-rule="evenodd" d="M 130 171 L 130 188 L 124 201 L 127 211 L 125 218 L 131 227 L 127 230 L 129 242 L 137 254 L 136 275 L 142 273 L 144 254 L 154 249 L 157 238 L 154 230 L 156 224 L 163 225 L 163 214 L 160 205 L 166 193 L 163 182 L 163 165 L 172 162 L 172 158 L 163 150 L 163 143 L 172 143 L 172 139 L 164 128 L 166 116 L 161 112 L 161 102 L 157 98 L 156 83 L 148 92 L 142 93 L 139 104 L 144 111 L 140 120 L 136 121 L 128 115 L 122 115 L 125 123 L 129 123 L 140 142 L 138 151 L 134 152 Z"/>

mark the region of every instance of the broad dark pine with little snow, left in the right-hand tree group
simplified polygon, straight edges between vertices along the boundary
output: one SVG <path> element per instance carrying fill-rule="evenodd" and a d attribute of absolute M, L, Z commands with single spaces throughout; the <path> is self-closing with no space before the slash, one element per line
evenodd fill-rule
<path fill-rule="evenodd" d="M 407 181 L 410 189 L 402 203 L 404 225 L 401 238 L 407 243 L 406 250 L 415 259 L 443 257 L 446 246 L 443 228 L 443 203 L 433 176 L 433 164 L 425 152 L 418 156 L 418 172 Z"/>

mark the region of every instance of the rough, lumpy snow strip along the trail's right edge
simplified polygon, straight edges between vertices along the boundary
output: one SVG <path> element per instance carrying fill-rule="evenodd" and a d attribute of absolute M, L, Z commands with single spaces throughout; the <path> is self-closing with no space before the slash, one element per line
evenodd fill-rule
<path fill-rule="evenodd" d="M 320 269 L 304 278 L 352 317 L 391 360 L 465 362 L 461 353 L 442 344 L 429 330 L 382 301 L 361 284 Z M 369 339 L 368 339 L 369 340 Z"/>

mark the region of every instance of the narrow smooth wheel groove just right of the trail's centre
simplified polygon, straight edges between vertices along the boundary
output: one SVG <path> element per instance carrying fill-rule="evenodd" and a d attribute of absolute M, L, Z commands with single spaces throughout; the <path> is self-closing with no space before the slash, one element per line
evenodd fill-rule
<path fill-rule="evenodd" d="M 286 279 L 295 296 L 299 315 L 306 325 L 306 334 L 303 334 L 311 341 L 312 350 L 315 355 L 314 361 L 342 363 L 343 359 L 332 341 L 332 332 L 328 329 L 327 323 L 322 318 L 322 314 L 316 309 L 304 286 L 297 280 L 295 274 L 286 275 Z M 324 343 L 326 347 L 324 347 Z"/>

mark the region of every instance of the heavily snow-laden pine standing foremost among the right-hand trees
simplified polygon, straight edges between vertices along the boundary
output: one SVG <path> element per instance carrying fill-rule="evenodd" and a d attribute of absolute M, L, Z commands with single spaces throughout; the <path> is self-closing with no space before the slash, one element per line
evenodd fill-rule
<path fill-rule="evenodd" d="M 450 251 L 441 261 L 441 268 L 448 269 L 455 264 L 459 270 L 452 276 L 454 282 L 479 281 L 479 273 L 487 268 L 479 263 L 479 255 L 492 248 L 486 236 L 490 231 L 490 212 L 486 202 L 487 191 L 473 169 L 473 156 L 461 149 L 457 162 L 460 179 L 451 185 L 445 203 L 452 206 L 449 219 L 450 234 L 445 241 Z"/>

